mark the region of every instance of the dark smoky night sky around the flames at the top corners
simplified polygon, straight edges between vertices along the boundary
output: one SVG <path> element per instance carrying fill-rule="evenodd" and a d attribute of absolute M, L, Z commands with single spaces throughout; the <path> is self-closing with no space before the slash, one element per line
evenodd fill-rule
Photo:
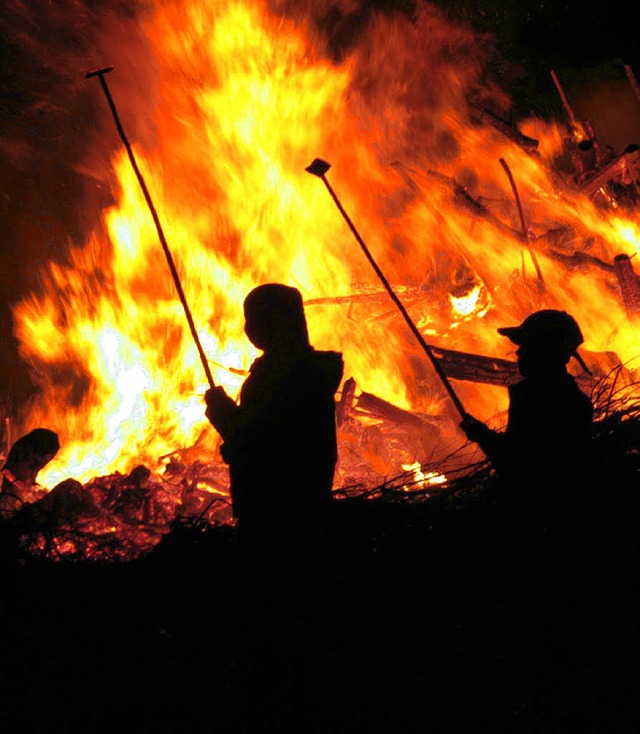
<path fill-rule="evenodd" d="M 617 90 L 624 87 L 629 95 L 622 62 L 640 75 L 637 24 L 619 6 L 612 12 L 604 3 L 591 8 L 530 0 L 436 4 L 450 19 L 493 34 L 500 53 L 521 69 L 510 76 L 506 90 L 520 116 L 562 116 L 550 77 L 554 69 L 576 112 L 584 104 L 590 114 L 589 101 L 604 94 L 600 106 L 608 112 L 601 125 L 617 153 L 619 146 L 640 142 L 625 139 L 635 134 L 630 126 L 637 120 L 629 118 L 640 117 L 640 107 L 628 114 L 627 108 L 617 111 Z M 144 43 L 137 16 L 145 5 L 152 2 L 5 0 L 0 8 L 0 395 L 9 394 L 14 404 L 32 388 L 11 334 L 11 305 L 35 287 L 34 266 L 58 257 L 60 243 L 82 241 L 99 207 L 109 203 L 108 186 L 94 174 L 100 161 L 107 164 L 118 140 L 99 119 L 96 105 L 104 100 L 84 72 L 111 63 L 106 54 L 113 53 L 117 34 L 123 54 L 127 44 Z M 413 4 L 376 0 L 355 6 L 349 4 L 352 28 L 372 9 L 410 13 Z M 340 9 L 336 14 L 349 21 Z M 132 139 L 135 133 L 129 128 Z M 86 166 L 88 157 L 94 158 L 93 171 Z"/>

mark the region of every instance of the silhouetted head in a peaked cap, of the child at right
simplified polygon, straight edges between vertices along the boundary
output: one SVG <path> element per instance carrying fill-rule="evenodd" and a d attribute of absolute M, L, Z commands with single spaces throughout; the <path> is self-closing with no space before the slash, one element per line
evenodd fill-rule
<path fill-rule="evenodd" d="M 518 345 L 518 368 L 523 377 L 565 370 L 571 357 L 587 369 L 577 351 L 584 337 L 576 320 L 566 311 L 536 311 L 520 326 L 506 326 L 498 333 Z"/>

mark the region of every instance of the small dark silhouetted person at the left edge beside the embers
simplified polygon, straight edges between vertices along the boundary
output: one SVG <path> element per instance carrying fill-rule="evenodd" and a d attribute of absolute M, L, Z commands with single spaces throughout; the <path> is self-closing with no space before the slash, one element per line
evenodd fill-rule
<path fill-rule="evenodd" d="M 43 496 L 37 485 L 38 472 L 59 449 L 57 434 L 48 428 L 34 428 L 15 441 L 2 468 L 0 519 L 10 519 L 25 504 Z"/>

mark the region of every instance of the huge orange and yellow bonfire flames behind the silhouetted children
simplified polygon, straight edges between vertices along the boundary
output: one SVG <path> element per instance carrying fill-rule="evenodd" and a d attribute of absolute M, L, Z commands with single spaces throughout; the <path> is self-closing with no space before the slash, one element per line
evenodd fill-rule
<path fill-rule="evenodd" d="M 275 6 L 158 1 L 144 22 L 153 132 L 133 147 L 215 382 L 237 393 L 256 356 L 243 298 L 282 281 L 303 293 L 313 343 L 344 354 L 337 488 L 408 467 L 436 485 L 421 462 L 464 444 L 433 368 L 305 173 L 316 156 L 332 162 L 346 209 L 470 412 L 500 422 L 517 373 L 496 328 L 540 308 L 576 317 L 596 377 L 620 364 L 632 377 L 633 141 L 606 151 L 570 114 L 505 122 L 513 111 L 486 46 L 428 4 L 413 19 L 373 14 L 340 61 L 311 10 Z M 138 109 L 117 80 L 131 69 L 92 61 L 114 65 L 126 126 Z M 153 527 L 153 543 L 177 514 L 224 520 L 226 473 L 204 418 L 206 375 L 124 150 L 111 178 L 102 221 L 15 308 L 40 389 L 20 425 L 60 436 L 45 487 L 74 478 L 105 533 Z"/>

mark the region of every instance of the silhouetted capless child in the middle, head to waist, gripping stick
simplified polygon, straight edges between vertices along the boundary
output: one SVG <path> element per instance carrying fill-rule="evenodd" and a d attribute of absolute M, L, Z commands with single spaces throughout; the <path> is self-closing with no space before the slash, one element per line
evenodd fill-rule
<path fill-rule="evenodd" d="M 322 523 L 337 461 L 335 393 L 342 355 L 309 344 L 299 291 L 261 285 L 244 302 L 245 333 L 263 354 L 239 404 L 207 391 L 206 415 L 223 438 L 239 534 L 247 528 Z"/>

